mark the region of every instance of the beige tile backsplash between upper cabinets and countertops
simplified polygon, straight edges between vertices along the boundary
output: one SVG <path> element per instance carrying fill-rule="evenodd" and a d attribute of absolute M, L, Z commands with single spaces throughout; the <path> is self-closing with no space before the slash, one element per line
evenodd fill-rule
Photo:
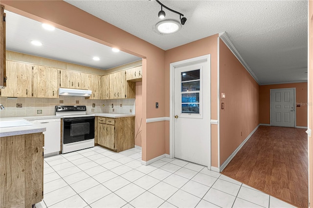
<path fill-rule="evenodd" d="M 135 114 L 135 99 L 88 100 L 85 99 L 85 97 L 72 96 L 59 96 L 59 98 L 18 99 L 7 99 L 5 97 L 1 97 L 0 104 L 5 107 L 5 109 L 0 110 L 0 117 L 55 115 L 56 105 L 86 105 L 87 113 Z M 95 104 L 94 107 L 92 107 L 92 104 Z M 37 114 L 38 112 L 42 113 Z"/>

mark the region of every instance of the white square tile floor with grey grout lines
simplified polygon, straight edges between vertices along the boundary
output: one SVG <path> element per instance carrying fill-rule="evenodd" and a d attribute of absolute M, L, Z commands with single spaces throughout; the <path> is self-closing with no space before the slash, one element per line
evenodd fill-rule
<path fill-rule="evenodd" d="M 45 158 L 44 200 L 36 207 L 292 207 L 204 166 L 140 162 L 140 149 L 115 153 L 100 146 Z"/>

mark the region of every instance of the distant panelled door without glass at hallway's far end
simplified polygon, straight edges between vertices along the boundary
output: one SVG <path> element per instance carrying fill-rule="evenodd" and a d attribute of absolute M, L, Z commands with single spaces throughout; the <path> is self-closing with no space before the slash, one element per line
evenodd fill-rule
<path fill-rule="evenodd" d="M 295 127 L 294 101 L 294 88 L 270 90 L 271 125 Z"/>

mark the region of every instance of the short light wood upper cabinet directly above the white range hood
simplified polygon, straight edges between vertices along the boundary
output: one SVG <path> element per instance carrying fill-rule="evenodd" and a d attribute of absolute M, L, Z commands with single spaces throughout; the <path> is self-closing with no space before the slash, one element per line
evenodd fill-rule
<path fill-rule="evenodd" d="M 60 70 L 60 87 L 73 89 L 89 89 L 88 74 L 76 71 Z"/>

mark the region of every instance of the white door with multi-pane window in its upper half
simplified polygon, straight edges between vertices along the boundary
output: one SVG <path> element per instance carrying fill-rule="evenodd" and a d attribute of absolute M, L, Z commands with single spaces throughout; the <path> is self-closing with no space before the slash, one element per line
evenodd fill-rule
<path fill-rule="evenodd" d="M 210 63 L 175 67 L 175 157 L 210 167 Z"/>

